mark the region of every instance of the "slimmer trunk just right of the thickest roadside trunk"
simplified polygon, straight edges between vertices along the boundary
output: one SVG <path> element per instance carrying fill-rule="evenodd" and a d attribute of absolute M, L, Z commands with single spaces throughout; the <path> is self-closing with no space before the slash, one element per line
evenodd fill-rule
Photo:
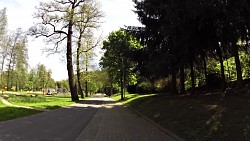
<path fill-rule="evenodd" d="M 84 98 L 83 90 L 82 90 L 82 83 L 81 83 L 81 72 L 80 72 L 80 48 L 81 48 L 81 41 L 82 41 L 82 34 L 80 34 L 78 38 L 78 47 L 76 52 L 76 66 L 77 66 L 77 82 L 78 82 L 78 94 L 81 95 L 81 98 Z"/>

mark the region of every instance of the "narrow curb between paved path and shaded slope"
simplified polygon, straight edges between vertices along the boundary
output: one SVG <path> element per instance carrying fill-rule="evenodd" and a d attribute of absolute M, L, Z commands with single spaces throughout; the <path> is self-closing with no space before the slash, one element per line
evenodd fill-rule
<path fill-rule="evenodd" d="M 121 102 L 119 102 L 121 103 Z M 169 130 L 161 127 L 159 124 L 155 123 L 154 121 L 152 121 L 151 119 L 149 119 L 148 117 L 146 117 L 145 115 L 141 114 L 140 112 L 136 111 L 135 109 L 121 103 L 121 105 L 123 105 L 124 107 L 130 109 L 130 111 L 134 112 L 135 114 L 137 114 L 138 116 L 142 117 L 144 120 L 148 121 L 150 124 L 154 125 L 156 128 L 158 128 L 159 130 L 161 130 L 163 133 L 165 133 L 166 135 L 170 136 L 172 139 L 176 140 L 176 141 L 185 141 L 184 139 L 182 139 L 181 137 L 175 135 L 174 133 L 170 132 Z"/>

